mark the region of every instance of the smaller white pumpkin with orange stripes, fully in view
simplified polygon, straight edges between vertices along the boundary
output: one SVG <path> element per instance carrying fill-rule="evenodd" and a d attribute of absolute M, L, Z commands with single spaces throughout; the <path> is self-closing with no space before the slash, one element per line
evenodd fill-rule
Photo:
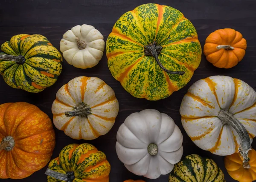
<path fill-rule="evenodd" d="M 73 139 L 108 133 L 119 111 L 113 89 L 97 77 L 76 77 L 63 85 L 52 104 L 53 123 Z"/>

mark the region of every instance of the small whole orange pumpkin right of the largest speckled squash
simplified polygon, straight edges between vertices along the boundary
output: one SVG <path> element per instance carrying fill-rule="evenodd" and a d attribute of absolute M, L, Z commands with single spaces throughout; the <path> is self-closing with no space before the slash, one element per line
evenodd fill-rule
<path fill-rule="evenodd" d="M 218 68 L 232 68 L 243 59 L 246 47 L 246 40 L 240 32 L 224 28 L 209 34 L 204 55 Z"/>

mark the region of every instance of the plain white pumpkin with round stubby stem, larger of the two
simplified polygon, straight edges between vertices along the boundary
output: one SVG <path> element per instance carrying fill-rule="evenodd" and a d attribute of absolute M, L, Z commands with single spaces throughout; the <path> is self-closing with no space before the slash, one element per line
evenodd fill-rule
<path fill-rule="evenodd" d="M 132 173 L 156 179 L 172 171 L 183 154 L 180 129 L 154 109 L 133 113 L 117 132 L 116 153 Z"/>

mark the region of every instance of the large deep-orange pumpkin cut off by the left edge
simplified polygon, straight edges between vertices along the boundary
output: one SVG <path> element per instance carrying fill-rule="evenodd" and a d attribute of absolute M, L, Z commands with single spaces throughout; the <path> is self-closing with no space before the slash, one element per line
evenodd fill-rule
<path fill-rule="evenodd" d="M 43 168 L 52 156 L 52 121 L 26 102 L 0 105 L 0 178 L 22 179 Z"/>

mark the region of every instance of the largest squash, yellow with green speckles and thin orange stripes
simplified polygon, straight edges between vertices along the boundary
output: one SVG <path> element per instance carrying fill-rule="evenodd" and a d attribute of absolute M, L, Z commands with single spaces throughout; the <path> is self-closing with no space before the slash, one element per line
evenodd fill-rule
<path fill-rule="evenodd" d="M 177 9 L 158 4 L 123 14 L 106 43 L 113 77 L 131 95 L 147 100 L 183 88 L 198 68 L 201 52 L 192 23 Z"/>

